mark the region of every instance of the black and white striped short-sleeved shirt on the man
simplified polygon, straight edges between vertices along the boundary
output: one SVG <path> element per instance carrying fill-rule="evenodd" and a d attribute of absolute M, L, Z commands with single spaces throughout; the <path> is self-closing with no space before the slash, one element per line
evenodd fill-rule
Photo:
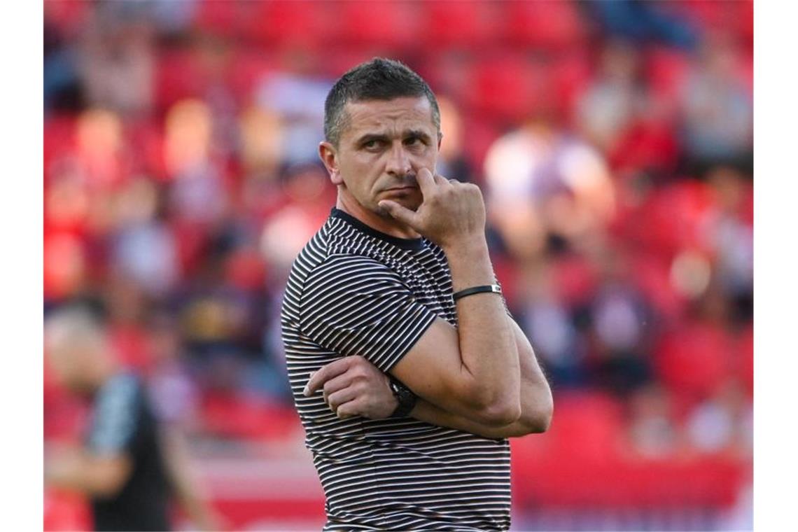
<path fill-rule="evenodd" d="M 389 372 L 436 317 L 457 325 L 443 250 L 333 209 L 291 269 L 282 340 L 326 495 L 324 530 L 507 530 L 510 447 L 413 418 L 339 420 L 311 372 L 361 355 Z"/>

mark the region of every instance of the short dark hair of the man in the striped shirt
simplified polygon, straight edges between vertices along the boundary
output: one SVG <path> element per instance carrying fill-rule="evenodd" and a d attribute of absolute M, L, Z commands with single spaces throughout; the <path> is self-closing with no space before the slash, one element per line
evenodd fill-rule
<path fill-rule="evenodd" d="M 399 97 L 427 97 L 433 124 L 440 136 L 440 108 L 433 90 L 421 76 L 401 61 L 374 57 L 338 78 L 324 102 L 324 137 L 338 146 L 346 128 L 344 107 L 348 101 L 393 100 Z"/>

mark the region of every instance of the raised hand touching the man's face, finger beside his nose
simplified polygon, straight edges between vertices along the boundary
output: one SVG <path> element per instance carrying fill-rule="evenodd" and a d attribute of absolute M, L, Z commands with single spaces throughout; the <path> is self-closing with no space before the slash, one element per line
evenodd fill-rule
<path fill-rule="evenodd" d="M 421 168 L 416 175 L 424 197 L 417 211 L 390 199 L 379 205 L 394 219 L 412 227 L 444 250 L 484 240 L 485 204 L 480 187 L 434 175 Z"/>

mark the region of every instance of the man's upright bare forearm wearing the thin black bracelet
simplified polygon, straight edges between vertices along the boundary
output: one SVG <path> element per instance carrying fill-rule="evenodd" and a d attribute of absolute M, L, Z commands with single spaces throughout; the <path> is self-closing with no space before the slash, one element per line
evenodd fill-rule
<path fill-rule="evenodd" d="M 495 282 L 484 236 L 444 248 L 452 290 Z M 478 404 L 519 408 L 519 357 L 514 334 L 496 294 L 473 294 L 456 301 L 461 369 Z M 517 417 L 517 416 L 516 416 Z"/>

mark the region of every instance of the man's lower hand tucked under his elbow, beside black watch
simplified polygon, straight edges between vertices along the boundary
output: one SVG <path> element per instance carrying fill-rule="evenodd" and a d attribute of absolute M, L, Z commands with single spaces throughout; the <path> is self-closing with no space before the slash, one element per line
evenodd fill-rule
<path fill-rule="evenodd" d="M 352 416 L 384 420 L 398 405 L 389 382 L 388 376 L 365 358 L 344 357 L 313 373 L 304 393 L 311 396 L 322 389 L 326 404 L 342 420 Z"/>

